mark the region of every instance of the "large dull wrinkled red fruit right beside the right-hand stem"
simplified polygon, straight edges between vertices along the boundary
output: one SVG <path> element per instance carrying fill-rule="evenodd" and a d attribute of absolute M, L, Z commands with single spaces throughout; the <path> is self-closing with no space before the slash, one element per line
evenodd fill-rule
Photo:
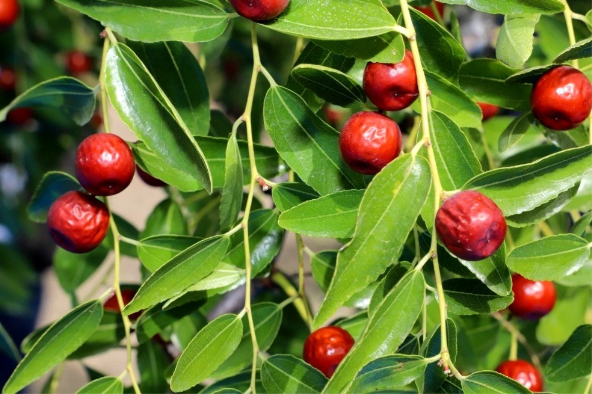
<path fill-rule="evenodd" d="M 446 199 L 436 214 L 438 238 L 462 260 L 483 260 L 506 238 L 506 219 L 490 198 L 473 190 Z"/>

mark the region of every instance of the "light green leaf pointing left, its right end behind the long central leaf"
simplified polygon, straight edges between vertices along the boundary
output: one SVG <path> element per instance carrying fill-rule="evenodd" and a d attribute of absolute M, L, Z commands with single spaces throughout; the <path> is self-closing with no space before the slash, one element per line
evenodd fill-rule
<path fill-rule="evenodd" d="M 303 202 L 279 215 L 285 230 L 309 237 L 350 238 L 365 190 L 343 190 Z"/>

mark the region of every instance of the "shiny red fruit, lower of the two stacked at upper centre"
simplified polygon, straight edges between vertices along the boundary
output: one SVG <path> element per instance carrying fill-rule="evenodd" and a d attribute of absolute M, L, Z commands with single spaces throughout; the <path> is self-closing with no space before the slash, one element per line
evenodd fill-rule
<path fill-rule="evenodd" d="M 377 174 L 401 153 L 401 130 L 391 118 L 377 112 L 353 114 L 339 135 L 343 161 L 361 174 Z"/>

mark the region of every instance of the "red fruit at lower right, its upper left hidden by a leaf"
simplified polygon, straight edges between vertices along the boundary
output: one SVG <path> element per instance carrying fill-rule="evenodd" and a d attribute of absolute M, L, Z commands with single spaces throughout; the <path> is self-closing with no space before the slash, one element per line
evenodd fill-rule
<path fill-rule="evenodd" d="M 557 292 L 553 282 L 530 280 L 520 274 L 512 275 L 514 301 L 509 309 L 512 314 L 527 320 L 538 320 L 551 312 Z"/>

